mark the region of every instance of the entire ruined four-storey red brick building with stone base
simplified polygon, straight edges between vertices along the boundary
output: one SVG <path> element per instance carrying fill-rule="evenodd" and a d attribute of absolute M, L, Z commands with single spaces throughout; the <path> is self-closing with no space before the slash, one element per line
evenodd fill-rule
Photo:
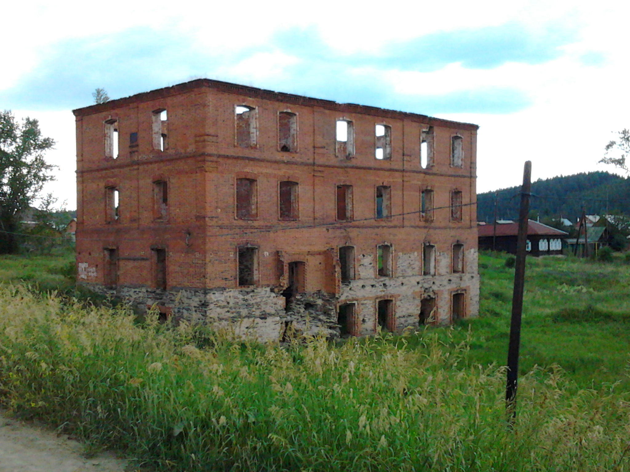
<path fill-rule="evenodd" d="M 478 126 L 199 79 L 74 110 L 79 282 L 278 339 L 478 312 Z"/>

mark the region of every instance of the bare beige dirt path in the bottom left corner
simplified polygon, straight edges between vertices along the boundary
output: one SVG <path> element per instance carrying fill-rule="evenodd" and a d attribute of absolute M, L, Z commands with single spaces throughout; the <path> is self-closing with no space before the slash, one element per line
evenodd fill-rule
<path fill-rule="evenodd" d="M 66 434 L 57 436 L 0 411 L 0 472 L 123 472 L 127 467 L 111 452 L 91 459 L 81 452 L 83 446 Z"/>

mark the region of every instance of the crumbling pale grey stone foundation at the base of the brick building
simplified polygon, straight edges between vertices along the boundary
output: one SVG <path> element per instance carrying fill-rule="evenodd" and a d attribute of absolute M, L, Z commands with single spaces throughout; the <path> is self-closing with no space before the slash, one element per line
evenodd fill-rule
<path fill-rule="evenodd" d="M 205 323 L 230 330 L 236 337 L 254 337 L 261 341 L 282 340 L 289 327 L 298 334 L 338 337 L 337 307 L 343 303 L 356 304 L 357 335 L 370 335 L 376 331 L 379 300 L 393 301 L 396 332 L 406 327 L 418 327 L 420 303 L 426 296 L 437 301 L 437 324 L 452 321 L 452 293 L 466 293 L 465 317 L 476 316 L 479 307 L 477 274 L 357 279 L 342 284 L 339 296 L 322 291 L 297 293 L 288 299 L 288 303 L 287 298 L 268 287 L 159 290 L 129 286 L 111 289 L 94 283 L 84 285 L 98 293 L 122 298 L 141 313 L 156 305 L 160 313 L 173 317 L 173 320 Z"/>

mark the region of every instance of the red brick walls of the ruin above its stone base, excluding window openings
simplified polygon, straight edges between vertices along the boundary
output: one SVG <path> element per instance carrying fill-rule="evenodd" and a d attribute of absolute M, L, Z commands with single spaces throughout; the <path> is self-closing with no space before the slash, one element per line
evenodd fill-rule
<path fill-rule="evenodd" d="M 257 109 L 258 145 L 235 145 L 234 107 Z M 169 149 L 152 149 L 152 111 L 168 110 Z M 278 112 L 297 114 L 297 152 L 278 150 Z M 278 285 L 285 262 L 303 260 L 308 291 L 331 291 L 328 248 L 354 245 L 360 254 L 374 254 L 387 242 L 399 252 L 418 252 L 430 240 L 440 252 L 459 241 L 476 248 L 476 209 L 464 206 L 462 222 L 450 221 L 450 209 L 435 211 L 432 223 L 418 213 L 374 220 L 375 188 L 391 186 L 394 215 L 415 212 L 420 190 L 433 189 L 436 207 L 450 205 L 450 192 L 459 189 L 463 203 L 476 198 L 476 126 L 435 120 L 422 115 L 335 104 L 222 82 L 195 81 L 139 96 L 77 110 L 77 261 L 97 267 L 103 283 L 103 247 L 118 247 L 119 284 L 151 286 L 151 247 L 168 250 L 168 286 L 215 288 L 237 286 L 237 247 L 259 249 L 258 281 Z M 103 122 L 117 119 L 118 159 L 105 158 Z M 335 121 L 351 120 L 355 157 L 335 155 Z M 391 126 L 391 160 L 374 158 L 374 126 Z M 420 167 L 420 130 L 432 125 L 435 166 Z M 129 147 L 129 133 L 138 133 Z M 464 166 L 450 167 L 450 138 L 464 141 Z M 130 152 L 137 151 L 132 157 Z M 257 180 L 258 219 L 237 220 L 236 178 Z M 168 222 L 154 221 L 152 182 L 168 181 Z M 278 218 L 278 183 L 299 183 L 299 220 Z M 335 223 L 336 185 L 353 186 L 354 218 L 316 228 L 282 230 L 299 225 Z M 105 222 L 105 187 L 120 191 L 120 218 Z M 264 230 L 264 232 L 261 232 Z M 279 230 L 279 231 L 278 231 Z M 188 244 L 186 244 L 188 237 Z M 125 259 L 128 258 L 128 259 Z M 131 259 L 129 259 L 131 258 Z M 142 260 L 146 258 L 147 260 Z M 396 261 L 396 257 L 394 257 Z M 358 264 L 358 262 L 357 262 Z M 396 268 L 394 264 L 394 275 Z"/>

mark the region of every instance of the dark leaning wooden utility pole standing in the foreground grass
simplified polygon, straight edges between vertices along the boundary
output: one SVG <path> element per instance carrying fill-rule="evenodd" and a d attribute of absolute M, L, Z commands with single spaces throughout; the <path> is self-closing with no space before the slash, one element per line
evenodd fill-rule
<path fill-rule="evenodd" d="M 512 321 L 510 322 L 510 346 L 508 347 L 508 378 L 505 403 L 510 422 L 516 417 L 516 392 L 518 385 L 518 349 L 520 348 L 520 318 L 523 313 L 525 288 L 525 256 L 527 254 L 527 228 L 529 227 L 529 196 L 532 190 L 532 162 L 525 162 L 523 186 L 520 190 L 520 214 L 518 215 L 518 239 L 512 295 Z"/>

